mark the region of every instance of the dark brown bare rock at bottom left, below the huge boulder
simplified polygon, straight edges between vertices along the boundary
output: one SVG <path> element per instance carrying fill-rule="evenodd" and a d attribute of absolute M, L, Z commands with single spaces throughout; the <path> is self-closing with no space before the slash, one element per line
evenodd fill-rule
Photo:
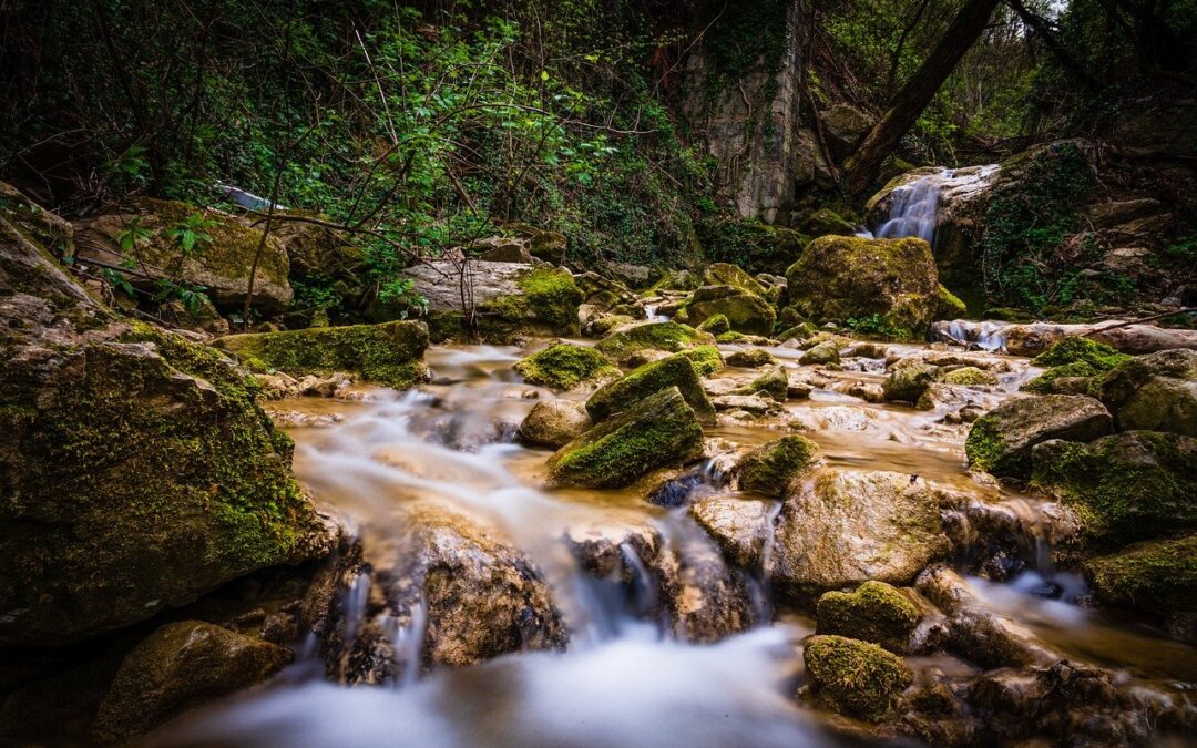
<path fill-rule="evenodd" d="M 121 663 L 93 734 L 103 743 L 123 743 L 190 707 L 261 683 L 292 658 L 286 647 L 212 624 L 168 624 Z"/>

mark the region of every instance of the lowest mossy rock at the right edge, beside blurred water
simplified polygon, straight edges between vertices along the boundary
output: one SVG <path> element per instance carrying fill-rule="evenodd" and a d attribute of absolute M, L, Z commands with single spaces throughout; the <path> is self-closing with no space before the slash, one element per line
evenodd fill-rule
<path fill-rule="evenodd" d="M 1197 535 L 1156 540 L 1089 559 L 1084 577 L 1098 600 L 1160 615 L 1190 640 L 1197 638 Z"/>

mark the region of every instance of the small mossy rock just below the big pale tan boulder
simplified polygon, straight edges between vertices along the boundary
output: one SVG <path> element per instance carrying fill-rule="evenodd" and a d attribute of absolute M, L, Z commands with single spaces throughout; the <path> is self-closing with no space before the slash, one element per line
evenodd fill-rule
<path fill-rule="evenodd" d="M 855 592 L 826 592 L 816 614 L 821 634 L 871 641 L 899 655 L 922 619 L 910 597 L 885 582 L 865 582 Z"/>

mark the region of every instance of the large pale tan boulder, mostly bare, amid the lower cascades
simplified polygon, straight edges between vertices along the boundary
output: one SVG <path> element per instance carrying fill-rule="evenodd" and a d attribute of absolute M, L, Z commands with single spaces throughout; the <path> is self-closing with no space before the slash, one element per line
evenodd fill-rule
<path fill-rule="evenodd" d="M 790 486 L 777 525 L 773 579 L 796 597 L 869 579 L 907 584 L 947 552 L 938 504 L 925 481 L 824 469 Z"/>

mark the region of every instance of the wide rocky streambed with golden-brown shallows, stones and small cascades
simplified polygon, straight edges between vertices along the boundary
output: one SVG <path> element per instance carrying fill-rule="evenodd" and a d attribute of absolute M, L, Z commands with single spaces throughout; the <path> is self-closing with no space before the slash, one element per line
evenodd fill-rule
<path fill-rule="evenodd" d="M 1053 560 L 1090 531 L 1077 504 L 968 469 L 971 424 L 1028 401 L 1043 367 L 942 343 L 836 341 L 821 363 L 719 345 L 534 384 L 590 351 L 527 358 L 552 342 L 433 346 L 414 390 L 267 405 L 346 528 L 339 592 L 293 665 L 158 744 L 1192 735 L 1197 649 Z M 593 413 L 660 438 L 660 464 L 579 439 Z"/>

